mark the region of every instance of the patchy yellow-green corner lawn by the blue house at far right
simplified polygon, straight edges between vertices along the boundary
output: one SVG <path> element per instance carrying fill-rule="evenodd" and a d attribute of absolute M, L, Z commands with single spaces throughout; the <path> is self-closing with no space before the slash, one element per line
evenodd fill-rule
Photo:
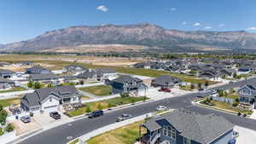
<path fill-rule="evenodd" d="M 223 102 L 223 101 L 211 101 L 211 102 L 212 102 L 212 107 L 221 108 L 221 109 L 228 110 L 231 112 L 236 112 L 236 113 L 238 113 L 238 112 L 246 113 L 247 115 L 252 114 L 251 111 L 242 110 L 237 107 L 232 107 L 232 105 L 227 102 Z M 203 104 L 203 103 L 201 102 L 201 104 Z"/>

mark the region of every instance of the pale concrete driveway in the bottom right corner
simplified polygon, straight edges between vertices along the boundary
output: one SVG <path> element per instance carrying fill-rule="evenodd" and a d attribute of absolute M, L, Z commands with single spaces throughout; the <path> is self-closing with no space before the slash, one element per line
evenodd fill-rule
<path fill-rule="evenodd" d="M 249 130 L 240 126 L 235 126 L 234 130 L 239 132 L 236 144 L 255 144 L 256 131 Z"/>

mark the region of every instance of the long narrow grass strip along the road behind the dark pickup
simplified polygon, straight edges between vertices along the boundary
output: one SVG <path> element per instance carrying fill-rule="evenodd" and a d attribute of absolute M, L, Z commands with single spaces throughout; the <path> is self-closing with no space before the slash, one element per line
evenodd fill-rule
<path fill-rule="evenodd" d="M 68 115 L 71 117 L 79 116 L 81 114 L 86 113 L 87 107 L 90 107 L 91 111 L 96 111 L 98 109 L 99 104 L 102 106 L 102 109 L 108 109 L 110 107 L 117 107 L 137 101 L 144 101 L 145 97 L 116 97 L 104 101 L 95 101 L 95 102 L 88 102 L 85 103 L 83 107 L 79 107 L 73 111 L 67 112 Z M 146 98 L 148 99 L 148 98 Z"/>

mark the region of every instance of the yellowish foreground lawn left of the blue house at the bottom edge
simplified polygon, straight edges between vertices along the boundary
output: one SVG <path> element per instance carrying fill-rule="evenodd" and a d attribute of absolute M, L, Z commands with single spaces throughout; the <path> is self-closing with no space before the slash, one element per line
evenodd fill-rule
<path fill-rule="evenodd" d="M 121 128 L 110 130 L 102 135 L 96 135 L 86 141 L 88 144 L 132 144 L 139 138 L 139 125 L 145 121 L 139 121 L 134 124 L 128 124 Z M 145 129 L 142 129 L 142 135 L 146 133 Z"/>

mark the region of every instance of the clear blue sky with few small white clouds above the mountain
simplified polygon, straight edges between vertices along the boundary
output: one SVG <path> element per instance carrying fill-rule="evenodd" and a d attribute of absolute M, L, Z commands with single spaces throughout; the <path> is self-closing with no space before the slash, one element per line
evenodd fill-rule
<path fill-rule="evenodd" d="M 68 26 L 151 23 L 183 31 L 256 32 L 256 0 L 1 0 L 0 43 Z"/>

